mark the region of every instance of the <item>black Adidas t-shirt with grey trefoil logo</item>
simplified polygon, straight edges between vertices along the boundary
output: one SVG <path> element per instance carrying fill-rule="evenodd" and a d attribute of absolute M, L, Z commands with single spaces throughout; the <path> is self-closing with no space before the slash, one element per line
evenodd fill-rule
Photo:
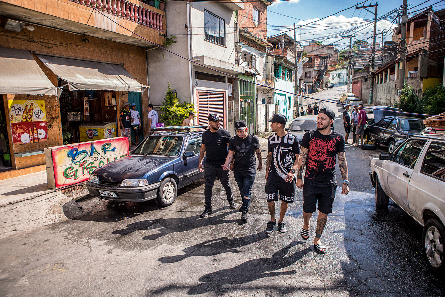
<path fill-rule="evenodd" d="M 255 149 L 259 149 L 259 140 L 255 135 L 248 134 L 244 139 L 241 139 L 238 135 L 231 138 L 229 151 L 235 153 L 234 169 L 237 171 L 255 171 Z"/>

